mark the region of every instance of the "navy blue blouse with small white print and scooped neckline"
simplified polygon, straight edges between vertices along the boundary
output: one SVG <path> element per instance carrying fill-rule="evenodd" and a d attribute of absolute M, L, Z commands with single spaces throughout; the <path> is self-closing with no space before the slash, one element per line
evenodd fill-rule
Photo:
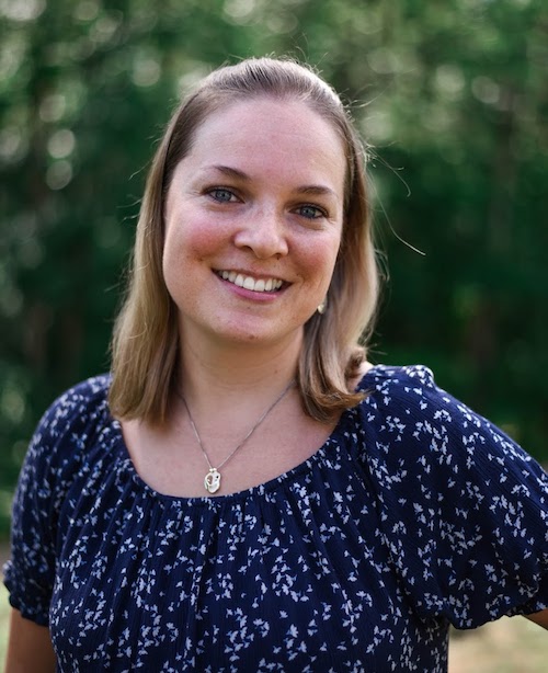
<path fill-rule="evenodd" d="M 217 498 L 136 472 L 109 378 L 46 412 L 13 507 L 11 604 L 58 670 L 447 669 L 447 627 L 548 606 L 548 478 L 422 366 L 376 366 L 306 463 Z"/>

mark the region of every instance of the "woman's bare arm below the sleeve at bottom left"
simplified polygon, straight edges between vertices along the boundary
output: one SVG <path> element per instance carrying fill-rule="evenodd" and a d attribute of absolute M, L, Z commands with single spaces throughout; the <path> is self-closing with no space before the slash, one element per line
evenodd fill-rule
<path fill-rule="evenodd" d="M 47 626 L 11 611 L 5 673 L 54 673 L 55 653 Z"/>

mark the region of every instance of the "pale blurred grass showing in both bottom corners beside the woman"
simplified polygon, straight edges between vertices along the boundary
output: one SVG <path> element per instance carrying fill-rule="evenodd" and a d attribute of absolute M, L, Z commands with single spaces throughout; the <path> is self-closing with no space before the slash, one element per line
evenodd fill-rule
<path fill-rule="evenodd" d="M 5 661 L 8 592 L 0 585 L 0 666 Z M 450 638 L 449 673 L 546 673 L 548 632 L 527 619 L 503 617 Z"/>

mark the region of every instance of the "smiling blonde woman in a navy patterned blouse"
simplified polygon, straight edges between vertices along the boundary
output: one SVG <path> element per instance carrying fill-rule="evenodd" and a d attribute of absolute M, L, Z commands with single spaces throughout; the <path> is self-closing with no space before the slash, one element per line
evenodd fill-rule
<path fill-rule="evenodd" d="M 364 184 L 301 66 L 221 68 L 175 113 L 112 377 L 49 409 L 21 474 L 9 672 L 445 671 L 449 623 L 548 625 L 546 475 L 358 345 Z"/>

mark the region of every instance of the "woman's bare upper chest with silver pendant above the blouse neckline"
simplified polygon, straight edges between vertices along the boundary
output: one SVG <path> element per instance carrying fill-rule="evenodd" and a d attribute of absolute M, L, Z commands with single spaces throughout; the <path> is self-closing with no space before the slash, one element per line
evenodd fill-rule
<path fill-rule="evenodd" d="M 274 410 L 260 424 L 233 420 L 199 431 L 176 420 L 164 429 L 122 423 L 125 445 L 141 479 L 176 498 L 217 497 L 267 483 L 313 456 L 330 440 L 336 421 L 319 423 L 302 411 Z"/>

